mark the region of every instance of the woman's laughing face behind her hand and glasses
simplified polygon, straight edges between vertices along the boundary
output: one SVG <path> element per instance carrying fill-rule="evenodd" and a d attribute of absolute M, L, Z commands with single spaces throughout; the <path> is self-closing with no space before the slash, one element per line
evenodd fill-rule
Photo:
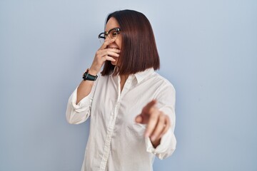
<path fill-rule="evenodd" d="M 111 30 L 111 28 L 116 28 L 116 27 L 120 27 L 119 24 L 118 24 L 118 21 L 116 21 L 116 19 L 114 19 L 114 17 L 111 17 L 106 24 L 105 31 L 109 31 L 109 30 Z M 109 40 L 109 36 L 106 37 L 106 40 Z M 118 48 L 119 50 L 121 50 L 121 34 L 118 34 L 118 37 L 116 38 L 116 41 L 109 44 L 107 46 L 107 48 Z M 113 56 L 111 56 L 111 57 L 113 57 Z M 112 61 L 111 64 L 116 66 L 116 64 L 118 62 L 118 58 L 117 57 L 113 57 L 113 58 L 116 61 L 115 62 Z"/>

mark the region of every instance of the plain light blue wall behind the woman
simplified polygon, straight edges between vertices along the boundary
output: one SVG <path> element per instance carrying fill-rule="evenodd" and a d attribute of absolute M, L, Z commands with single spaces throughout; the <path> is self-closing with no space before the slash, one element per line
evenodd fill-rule
<path fill-rule="evenodd" d="M 0 1 L 0 170 L 80 170 L 66 103 L 106 15 L 146 14 L 176 88 L 176 152 L 154 170 L 257 170 L 257 1 Z"/>

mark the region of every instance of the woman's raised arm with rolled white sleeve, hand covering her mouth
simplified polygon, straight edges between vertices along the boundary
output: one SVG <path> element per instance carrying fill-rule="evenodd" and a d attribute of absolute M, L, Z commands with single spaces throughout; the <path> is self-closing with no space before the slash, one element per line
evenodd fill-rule
<path fill-rule="evenodd" d="M 119 57 L 120 51 L 118 49 L 107 48 L 114 41 L 115 39 L 105 41 L 96 52 L 94 61 L 89 69 L 91 75 L 96 76 L 105 61 L 115 61 L 111 56 Z M 99 78 L 96 81 L 81 81 L 78 88 L 71 94 L 66 110 L 66 119 L 69 123 L 79 124 L 89 118 L 94 90 L 98 80 Z"/>

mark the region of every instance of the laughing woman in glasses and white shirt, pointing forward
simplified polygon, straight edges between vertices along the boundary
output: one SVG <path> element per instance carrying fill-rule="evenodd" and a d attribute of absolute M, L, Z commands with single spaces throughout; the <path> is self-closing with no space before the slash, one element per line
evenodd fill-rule
<path fill-rule="evenodd" d="M 154 156 L 171 155 L 176 138 L 175 90 L 154 71 L 151 24 L 137 11 L 115 11 L 99 38 L 104 43 L 66 110 L 69 123 L 91 119 L 81 170 L 153 170 Z"/>

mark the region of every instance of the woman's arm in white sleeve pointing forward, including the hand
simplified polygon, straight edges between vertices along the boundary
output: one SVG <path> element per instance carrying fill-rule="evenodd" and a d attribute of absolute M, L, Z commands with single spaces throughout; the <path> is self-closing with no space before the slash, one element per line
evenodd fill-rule
<path fill-rule="evenodd" d="M 175 128 L 175 90 L 168 85 L 163 88 L 156 100 L 148 103 L 141 114 L 136 117 L 137 123 L 146 126 L 146 151 L 163 159 L 172 155 L 176 149 Z"/>

